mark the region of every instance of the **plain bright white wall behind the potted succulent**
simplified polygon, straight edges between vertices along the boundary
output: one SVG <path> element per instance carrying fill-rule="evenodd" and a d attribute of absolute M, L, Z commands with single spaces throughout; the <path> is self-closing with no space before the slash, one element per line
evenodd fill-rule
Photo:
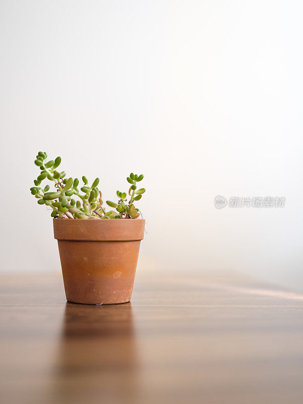
<path fill-rule="evenodd" d="M 38 150 L 106 199 L 145 175 L 140 270 L 302 276 L 300 1 L 12 1 L 0 6 L 1 270 L 60 268 L 29 188 Z M 217 194 L 285 196 L 218 211 Z"/>

